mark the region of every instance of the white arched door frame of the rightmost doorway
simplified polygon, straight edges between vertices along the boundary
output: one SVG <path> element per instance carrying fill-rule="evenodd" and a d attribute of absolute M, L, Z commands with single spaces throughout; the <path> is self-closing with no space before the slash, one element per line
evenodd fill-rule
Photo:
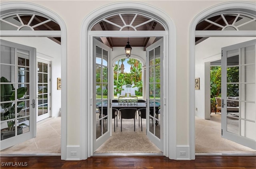
<path fill-rule="evenodd" d="M 256 4 L 252 2 L 226 2 L 208 8 L 198 14 L 190 24 L 189 39 L 189 158 L 195 159 L 195 37 L 226 37 L 226 36 L 256 36 L 255 31 L 195 31 L 196 25 L 203 19 L 222 10 L 242 9 L 255 11 Z"/>

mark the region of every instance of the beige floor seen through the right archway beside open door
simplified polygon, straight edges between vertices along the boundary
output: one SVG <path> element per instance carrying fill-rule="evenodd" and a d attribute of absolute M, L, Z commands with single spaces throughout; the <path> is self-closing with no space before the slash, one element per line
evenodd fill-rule
<path fill-rule="evenodd" d="M 256 150 L 222 138 L 221 115 L 212 113 L 211 120 L 196 116 L 196 153 L 256 154 Z"/>

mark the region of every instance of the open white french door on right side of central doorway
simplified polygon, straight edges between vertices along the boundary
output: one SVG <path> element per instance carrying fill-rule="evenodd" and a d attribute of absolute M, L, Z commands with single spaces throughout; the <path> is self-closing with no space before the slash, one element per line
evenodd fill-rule
<path fill-rule="evenodd" d="M 163 39 L 146 48 L 146 128 L 148 138 L 163 151 Z M 163 109 L 162 109 L 163 110 Z"/>

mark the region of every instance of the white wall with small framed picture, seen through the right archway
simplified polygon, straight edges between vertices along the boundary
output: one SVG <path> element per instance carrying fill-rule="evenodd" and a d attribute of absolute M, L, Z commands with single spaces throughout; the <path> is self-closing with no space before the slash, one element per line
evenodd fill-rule
<path fill-rule="evenodd" d="M 255 39 L 255 37 L 209 37 L 196 45 L 195 75 L 200 77 L 200 90 L 195 92 L 195 106 L 198 108 L 196 116 L 210 119 L 210 93 L 208 93 L 210 92 L 210 74 L 205 72 L 205 70 L 210 71 L 209 62 L 221 59 L 222 47 L 251 39 Z M 206 86 L 205 81 L 207 83 Z M 209 101 L 207 102 L 207 100 Z"/>

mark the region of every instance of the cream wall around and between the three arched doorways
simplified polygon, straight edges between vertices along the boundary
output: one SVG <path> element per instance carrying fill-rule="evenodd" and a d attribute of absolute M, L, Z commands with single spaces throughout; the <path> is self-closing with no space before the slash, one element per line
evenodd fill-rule
<path fill-rule="evenodd" d="M 1 1 L 6 2 L 6 1 Z M 67 28 L 67 143 L 68 145 L 80 145 L 80 52 L 81 44 L 81 25 L 83 20 L 90 12 L 98 10 L 98 8 L 118 1 L 43 1 L 34 0 L 26 1 L 38 4 L 55 12 L 62 18 Z M 121 2 L 121 1 L 120 1 Z M 150 4 L 170 16 L 176 26 L 176 109 L 177 109 L 177 145 L 188 145 L 189 143 L 189 28 L 193 19 L 202 11 L 216 4 L 228 2 L 228 0 L 142 0 L 142 3 Z M 254 2 L 254 1 L 251 1 Z M 173 30 L 169 30 L 173 31 Z M 216 44 L 215 42 L 214 44 Z M 217 43 L 218 44 L 218 43 Z M 171 44 L 169 44 L 171 45 Z M 218 48 L 219 50 L 219 48 Z M 132 51 L 133 52 L 133 51 Z M 204 51 L 206 53 L 206 51 Z M 209 53 L 209 51 L 208 51 Z M 218 52 L 219 53 L 219 52 Z M 210 56 L 216 55 L 212 54 Z M 169 56 L 168 56 L 169 57 Z M 202 56 L 205 60 L 207 57 Z M 198 63 L 197 65 L 200 65 Z M 201 66 L 200 66 L 201 67 Z M 202 67 L 201 67 L 202 68 Z M 168 68 L 166 68 L 168 70 Z M 201 71 L 204 71 L 202 69 Z M 168 72 L 172 73 L 172 72 Z M 196 74 L 196 77 L 202 75 Z M 200 77 L 201 82 L 204 81 Z M 202 83 L 201 83 L 202 84 Z M 196 106 L 199 106 L 199 100 L 196 100 Z M 203 109 L 202 109 L 203 110 Z M 171 110 L 170 110 L 171 112 Z"/>

